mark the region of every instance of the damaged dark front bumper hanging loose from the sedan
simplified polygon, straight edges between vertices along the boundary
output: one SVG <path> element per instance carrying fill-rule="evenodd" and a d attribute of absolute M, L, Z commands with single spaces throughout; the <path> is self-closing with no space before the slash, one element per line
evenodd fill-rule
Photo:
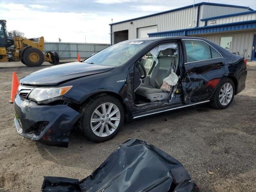
<path fill-rule="evenodd" d="M 38 105 L 15 96 L 14 124 L 20 136 L 44 144 L 68 147 L 70 131 L 81 114 L 68 105 Z"/>

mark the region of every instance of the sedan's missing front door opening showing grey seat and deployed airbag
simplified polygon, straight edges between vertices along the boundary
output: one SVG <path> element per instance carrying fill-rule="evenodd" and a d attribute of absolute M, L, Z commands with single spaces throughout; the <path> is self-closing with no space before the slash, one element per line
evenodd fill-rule
<path fill-rule="evenodd" d="M 150 50 L 137 62 L 135 70 L 137 68 L 140 73 L 143 73 L 141 68 L 144 67 L 146 77 L 140 78 L 139 86 L 134 87 L 136 105 L 166 100 L 170 96 L 172 86 L 178 82 L 177 50 L 176 43 L 162 44 Z M 134 81 L 137 80 L 134 79 Z"/>

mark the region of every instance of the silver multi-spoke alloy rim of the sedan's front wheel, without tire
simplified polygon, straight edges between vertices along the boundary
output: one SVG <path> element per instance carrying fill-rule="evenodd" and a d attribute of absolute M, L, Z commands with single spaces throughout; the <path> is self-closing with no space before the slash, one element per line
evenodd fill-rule
<path fill-rule="evenodd" d="M 91 129 L 96 136 L 106 137 L 113 134 L 120 123 L 120 110 L 113 103 L 103 103 L 91 116 Z"/>

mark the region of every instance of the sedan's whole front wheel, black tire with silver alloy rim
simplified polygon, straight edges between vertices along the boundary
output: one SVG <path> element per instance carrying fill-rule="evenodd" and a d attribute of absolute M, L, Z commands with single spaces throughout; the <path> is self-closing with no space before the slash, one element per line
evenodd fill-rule
<path fill-rule="evenodd" d="M 121 102 L 107 94 L 92 98 L 83 108 L 81 128 L 89 140 L 104 142 L 113 138 L 124 123 Z"/>

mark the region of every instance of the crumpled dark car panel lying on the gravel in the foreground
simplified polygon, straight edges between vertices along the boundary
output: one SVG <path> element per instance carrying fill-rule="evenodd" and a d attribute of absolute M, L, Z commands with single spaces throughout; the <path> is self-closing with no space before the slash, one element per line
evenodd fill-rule
<path fill-rule="evenodd" d="M 42 192 L 199 192 L 185 168 L 162 150 L 131 139 L 82 179 L 44 177 Z"/>

